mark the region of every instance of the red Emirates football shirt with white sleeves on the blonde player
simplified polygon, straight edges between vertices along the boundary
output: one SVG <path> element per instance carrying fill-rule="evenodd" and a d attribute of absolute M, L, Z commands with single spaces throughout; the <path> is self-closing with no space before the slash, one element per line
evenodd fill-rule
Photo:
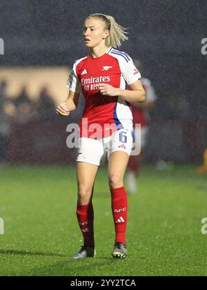
<path fill-rule="evenodd" d="M 141 78 L 132 59 L 114 48 L 101 57 L 78 59 L 70 72 L 67 86 L 72 92 L 83 93 L 85 109 L 80 122 L 80 137 L 107 137 L 125 128 L 132 131 L 130 104 L 119 96 L 101 95 L 95 84 L 110 84 L 126 89 Z"/>

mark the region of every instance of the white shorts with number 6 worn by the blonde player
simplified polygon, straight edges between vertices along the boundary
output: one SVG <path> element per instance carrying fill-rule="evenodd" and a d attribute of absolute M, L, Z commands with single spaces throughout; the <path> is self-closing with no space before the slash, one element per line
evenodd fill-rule
<path fill-rule="evenodd" d="M 98 139 L 81 137 L 77 152 L 77 162 L 86 162 L 94 165 L 104 164 L 106 153 L 108 159 L 115 151 L 123 151 L 130 155 L 133 144 L 133 133 L 121 129 L 109 137 Z"/>

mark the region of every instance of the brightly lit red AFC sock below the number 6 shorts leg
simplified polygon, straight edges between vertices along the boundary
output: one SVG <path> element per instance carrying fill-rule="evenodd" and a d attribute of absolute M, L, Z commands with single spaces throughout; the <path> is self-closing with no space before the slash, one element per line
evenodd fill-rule
<path fill-rule="evenodd" d="M 128 211 L 128 198 L 123 187 L 110 189 L 112 197 L 112 214 L 115 222 L 116 239 L 115 243 L 126 244 L 126 223 Z"/>

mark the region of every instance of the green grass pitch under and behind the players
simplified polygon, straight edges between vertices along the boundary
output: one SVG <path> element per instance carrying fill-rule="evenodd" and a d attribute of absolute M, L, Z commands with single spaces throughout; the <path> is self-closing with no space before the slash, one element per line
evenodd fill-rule
<path fill-rule="evenodd" d="M 113 260 L 107 168 L 95 185 L 97 258 L 74 261 L 82 244 L 72 166 L 0 168 L 0 276 L 206 276 L 207 177 L 195 166 L 145 166 L 129 196 L 128 258 Z"/>

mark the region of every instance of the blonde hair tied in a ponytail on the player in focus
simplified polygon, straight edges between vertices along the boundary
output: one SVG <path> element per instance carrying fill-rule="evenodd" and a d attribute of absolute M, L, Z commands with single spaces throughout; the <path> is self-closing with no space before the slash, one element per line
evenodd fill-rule
<path fill-rule="evenodd" d="M 106 38 L 106 46 L 113 46 L 115 48 L 119 48 L 121 46 L 121 41 L 125 41 L 128 39 L 126 34 L 126 28 L 120 26 L 114 19 L 114 17 L 110 15 L 105 15 L 101 13 L 90 14 L 87 19 L 90 18 L 98 18 L 101 19 L 105 23 L 105 29 L 110 31 L 110 34 Z"/>

